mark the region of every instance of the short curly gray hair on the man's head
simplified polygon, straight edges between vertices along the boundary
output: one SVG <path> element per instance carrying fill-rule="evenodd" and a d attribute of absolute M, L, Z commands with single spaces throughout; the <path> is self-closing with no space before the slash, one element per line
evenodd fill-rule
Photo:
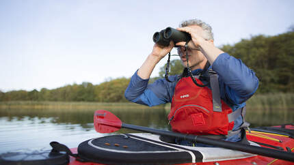
<path fill-rule="evenodd" d="M 213 39 L 213 32 L 212 32 L 212 28 L 211 25 L 208 25 L 206 23 L 204 23 L 202 20 L 198 20 L 198 19 L 191 19 L 191 20 L 184 20 L 179 27 L 187 27 L 190 25 L 198 25 L 199 27 L 202 27 L 203 31 L 205 32 L 206 36 L 203 36 L 204 39 L 206 40 L 214 40 Z"/>

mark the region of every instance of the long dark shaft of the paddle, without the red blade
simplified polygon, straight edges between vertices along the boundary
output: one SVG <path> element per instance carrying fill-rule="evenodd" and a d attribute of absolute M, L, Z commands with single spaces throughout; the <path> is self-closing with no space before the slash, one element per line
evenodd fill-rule
<path fill-rule="evenodd" d="M 252 145 L 244 145 L 238 142 L 229 142 L 225 140 L 215 140 L 212 138 L 205 138 L 202 136 L 195 136 L 191 134 L 181 134 L 177 132 L 170 132 L 170 131 L 165 131 L 165 130 L 157 130 L 154 128 L 150 127 L 142 127 L 138 125 L 131 125 L 131 124 L 126 124 L 122 123 L 122 126 L 124 128 L 128 128 L 131 130 L 137 130 L 141 132 L 148 132 L 152 134 L 157 134 L 157 135 L 163 135 L 163 136 L 172 136 L 176 138 L 181 138 L 185 140 L 191 140 L 193 142 L 200 142 L 206 145 L 213 145 L 215 147 L 222 147 L 225 149 L 232 149 L 232 150 L 237 150 L 237 151 L 243 151 L 246 153 L 253 153 L 256 155 L 263 155 L 267 157 L 273 157 L 276 159 L 281 159 L 281 160 L 288 160 L 291 162 L 294 162 L 294 153 L 286 152 L 286 151 L 278 151 L 275 149 L 268 149 L 264 147 L 257 147 L 257 146 L 252 146 Z"/>

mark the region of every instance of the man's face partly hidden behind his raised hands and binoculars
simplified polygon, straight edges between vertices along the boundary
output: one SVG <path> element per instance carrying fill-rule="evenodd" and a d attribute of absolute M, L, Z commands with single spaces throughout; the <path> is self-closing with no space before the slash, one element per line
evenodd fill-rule
<path fill-rule="evenodd" d="M 197 25 L 191 25 L 189 27 L 196 28 L 199 31 L 200 34 L 204 34 L 203 29 L 201 27 L 197 26 Z M 206 57 L 202 54 L 202 52 L 200 51 L 199 48 L 191 49 L 191 48 L 188 47 L 187 50 L 186 50 L 185 46 L 180 46 L 177 49 L 178 49 L 178 55 L 180 55 L 182 65 L 184 67 L 187 67 L 186 52 L 188 54 L 189 67 L 191 68 L 191 70 L 202 69 L 202 67 L 205 65 Z"/>

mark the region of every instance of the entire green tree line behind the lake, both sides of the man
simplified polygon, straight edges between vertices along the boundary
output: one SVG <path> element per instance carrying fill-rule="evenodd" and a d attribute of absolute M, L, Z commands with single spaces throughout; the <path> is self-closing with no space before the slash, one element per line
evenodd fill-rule
<path fill-rule="evenodd" d="M 256 35 L 236 44 L 226 44 L 220 49 L 241 59 L 260 80 L 258 93 L 294 92 L 294 29 L 275 36 Z M 160 68 L 159 77 L 164 77 L 166 64 Z M 170 63 L 170 75 L 181 74 L 183 66 L 179 59 Z M 40 91 L 0 91 L 0 101 L 60 101 L 60 102 L 127 102 L 124 90 L 130 78 L 116 78 L 93 85 L 83 82 L 57 89 L 43 88 Z"/>

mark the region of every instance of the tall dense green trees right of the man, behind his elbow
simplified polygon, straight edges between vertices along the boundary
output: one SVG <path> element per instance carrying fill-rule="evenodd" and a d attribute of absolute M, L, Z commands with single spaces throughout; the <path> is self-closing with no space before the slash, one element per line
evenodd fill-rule
<path fill-rule="evenodd" d="M 294 32 L 273 37 L 257 35 L 221 48 L 256 72 L 258 92 L 294 91 Z"/>

